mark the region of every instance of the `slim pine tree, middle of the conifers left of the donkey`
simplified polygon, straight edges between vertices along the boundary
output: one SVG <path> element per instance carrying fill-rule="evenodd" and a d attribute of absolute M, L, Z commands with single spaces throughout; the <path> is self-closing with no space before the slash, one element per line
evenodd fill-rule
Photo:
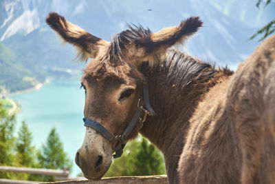
<path fill-rule="evenodd" d="M 32 146 L 32 134 L 28 125 L 23 121 L 17 138 L 17 159 L 19 165 L 32 167 L 34 165 L 34 146 Z"/>

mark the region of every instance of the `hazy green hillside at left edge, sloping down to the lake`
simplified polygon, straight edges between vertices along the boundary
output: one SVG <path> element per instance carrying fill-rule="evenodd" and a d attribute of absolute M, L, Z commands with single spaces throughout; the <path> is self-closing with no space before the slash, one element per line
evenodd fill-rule
<path fill-rule="evenodd" d="M 0 42 L 0 93 L 15 92 L 32 88 L 44 81 L 43 74 L 37 74 L 23 57 L 18 57 L 10 48 Z"/>

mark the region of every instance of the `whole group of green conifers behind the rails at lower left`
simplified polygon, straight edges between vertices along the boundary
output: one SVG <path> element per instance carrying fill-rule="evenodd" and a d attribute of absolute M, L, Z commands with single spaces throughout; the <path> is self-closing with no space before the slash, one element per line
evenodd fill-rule
<path fill-rule="evenodd" d="M 63 143 L 61 143 L 55 129 L 52 129 L 47 138 L 47 143 L 42 146 L 42 150 L 36 155 L 28 125 L 22 122 L 16 139 L 13 135 L 15 123 L 15 116 L 9 115 L 8 111 L 3 108 L 3 101 L 0 101 L 0 165 L 51 169 L 72 167 L 72 162 L 67 159 L 67 154 L 63 151 Z M 0 178 L 54 181 L 51 176 L 15 172 L 0 172 Z"/>

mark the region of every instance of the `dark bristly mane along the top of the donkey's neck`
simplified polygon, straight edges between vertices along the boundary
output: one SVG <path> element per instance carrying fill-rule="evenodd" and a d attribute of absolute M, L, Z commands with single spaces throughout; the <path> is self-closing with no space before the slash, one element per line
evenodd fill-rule
<path fill-rule="evenodd" d="M 222 72 L 225 76 L 233 74 L 227 67 L 215 69 L 214 65 L 190 57 L 175 50 L 168 50 L 163 68 L 167 72 L 167 79 L 177 88 L 195 83 L 207 83 L 212 76 Z"/>

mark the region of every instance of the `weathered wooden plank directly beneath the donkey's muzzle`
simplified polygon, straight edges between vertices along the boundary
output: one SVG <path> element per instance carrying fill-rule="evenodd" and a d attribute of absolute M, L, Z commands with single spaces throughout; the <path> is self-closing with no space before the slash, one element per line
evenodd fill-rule
<path fill-rule="evenodd" d="M 98 181 L 92 180 L 75 180 L 75 181 L 61 181 L 61 182 L 50 182 L 52 184 L 114 184 L 114 183 L 127 183 L 127 184 L 162 184 L 168 183 L 167 176 L 155 175 L 155 176 L 121 176 L 121 177 L 110 177 L 102 178 Z"/>

